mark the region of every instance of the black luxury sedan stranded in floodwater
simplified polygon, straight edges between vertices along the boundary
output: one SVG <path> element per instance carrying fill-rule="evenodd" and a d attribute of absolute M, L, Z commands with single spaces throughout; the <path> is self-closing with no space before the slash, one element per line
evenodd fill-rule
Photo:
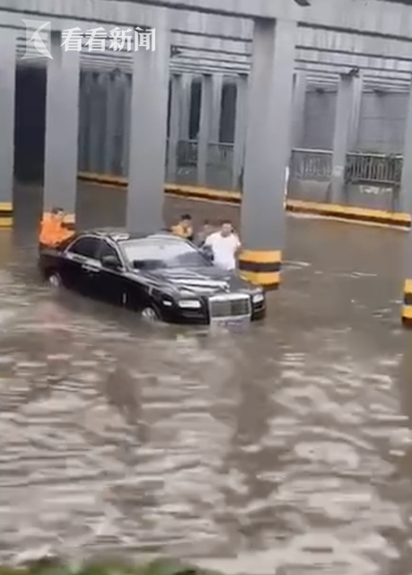
<path fill-rule="evenodd" d="M 261 288 L 217 268 L 206 252 L 168 232 L 77 234 L 59 249 L 42 250 L 39 269 L 55 287 L 168 323 L 259 320 L 266 313 Z"/>

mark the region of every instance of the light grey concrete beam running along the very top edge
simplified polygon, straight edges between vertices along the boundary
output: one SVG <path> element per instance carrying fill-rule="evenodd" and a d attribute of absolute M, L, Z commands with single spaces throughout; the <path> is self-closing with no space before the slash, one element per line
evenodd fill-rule
<path fill-rule="evenodd" d="M 162 11 L 162 5 L 171 10 Z M 304 8 L 292 0 L 0 0 L 0 10 L 52 21 L 53 25 L 71 20 L 123 26 L 140 22 L 156 27 L 167 13 L 172 29 L 183 23 L 197 35 L 207 30 L 218 36 L 228 36 L 229 29 L 236 29 L 237 38 L 245 38 L 245 33 L 251 38 L 251 16 L 289 18 L 306 28 L 365 34 L 374 40 L 412 40 L 412 8 L 382 0 L 311 0 Z M 218 14 L 214 25 L 207 25 L 214 14 Z"/>

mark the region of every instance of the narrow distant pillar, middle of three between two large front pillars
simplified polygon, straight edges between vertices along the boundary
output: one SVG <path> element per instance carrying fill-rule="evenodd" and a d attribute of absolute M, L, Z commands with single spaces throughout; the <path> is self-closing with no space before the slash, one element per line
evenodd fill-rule
<path fill-rule="evenodd" d="M 197 183 L 206 186 L 207 157 L 210 141 L 210 128 L 213 107 L 213 84 L 211 75 L 202 76 L 202 95 L 200 102 L 200 126 L 197 139 Z"/>

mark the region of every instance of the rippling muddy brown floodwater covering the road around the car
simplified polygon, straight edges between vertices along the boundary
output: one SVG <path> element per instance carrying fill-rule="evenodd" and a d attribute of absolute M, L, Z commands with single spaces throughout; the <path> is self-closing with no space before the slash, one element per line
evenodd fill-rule
<path fill-rule="evenodd" d="M 121 224 L 105 219 L 121 220 L 121 192 L 99 193 L 96 223 Z M 167 217 L 187 208 L 166 200 Z M 28 211 L 0 231 L 2 559 L 41 547 L 408 575 L 405 233 L 289 217 L 267 320 L 211 334 L 52 296 Z"/>

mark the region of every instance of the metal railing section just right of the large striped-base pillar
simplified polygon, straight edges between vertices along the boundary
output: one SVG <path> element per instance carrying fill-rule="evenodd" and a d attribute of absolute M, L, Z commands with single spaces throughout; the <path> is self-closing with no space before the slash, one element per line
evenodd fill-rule
<path fill-rule="evenodd" d="M 290 171 L 291 178 L 328 181 L 332 175 L 332 152 L 295 149 L 292 152 Z"/>

